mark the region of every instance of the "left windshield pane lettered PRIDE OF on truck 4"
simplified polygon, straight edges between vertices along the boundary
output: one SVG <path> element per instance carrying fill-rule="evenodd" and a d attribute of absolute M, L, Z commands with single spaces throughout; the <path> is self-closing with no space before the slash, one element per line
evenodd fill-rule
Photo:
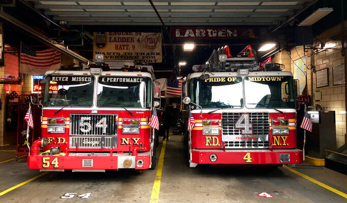
<path fill-rule="evenodd" d="M 192 102 L 202 108 L 243 107 L 241 77 L 214 77 L 205 81 L 194 78 L 190 86 Z"/>

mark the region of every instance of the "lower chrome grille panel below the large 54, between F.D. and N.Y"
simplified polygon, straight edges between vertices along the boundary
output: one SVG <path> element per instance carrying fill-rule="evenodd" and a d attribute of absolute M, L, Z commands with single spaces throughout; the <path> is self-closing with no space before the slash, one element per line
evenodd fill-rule
<path fill-rule="evenodd" d="M 70 137 L 70 150 L 75 149 L 110 149 L 117 148 L 117 137 L 104 136 L 72 136 Z"/>

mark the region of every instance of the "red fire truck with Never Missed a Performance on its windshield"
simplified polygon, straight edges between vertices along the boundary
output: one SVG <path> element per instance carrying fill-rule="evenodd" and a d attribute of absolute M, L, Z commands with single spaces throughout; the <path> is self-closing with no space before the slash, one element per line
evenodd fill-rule
<path fill-rule="evenodd" d="M 82 71 L 50 71 L 43 80 L 42 138 L 28 168 L 104 172 L 155 167 L 153 108 L 159 83 L 150 65 L 97 55 Z"/>

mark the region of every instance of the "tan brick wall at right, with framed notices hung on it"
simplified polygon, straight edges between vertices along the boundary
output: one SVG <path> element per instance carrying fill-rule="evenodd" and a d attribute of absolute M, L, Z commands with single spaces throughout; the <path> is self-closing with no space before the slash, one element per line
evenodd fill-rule
<path fill-rule="evenodd" d="M 347 21 L 345 21 L 345 26 L 347 26 Z M 331 38 L 336 36 L 341 30 L 341 25 L 328 29 L 321 33 L 321 35 L 316 36 L 323 43 L 334 43 L 335 46 L 326 51 L 319 51 L 314 55 L 314 65 L 316 66 L 317 71 L 329 68 L 329 85 L 326 87 L 316 87 L 316 73 L 313 73 L 313 78 L 311 79 L 311 70 L 306 70 L 307 73 L 307 90 L 309 95 L 313 95 L 316 90 L 322 92 L 322 99 L 320 101 L 314 101 L 312 98 L 313 105 L 320 104 L 322 106 L 328 105 L 330 111 L 335 111 L 336 118 L 336 147 L 339 148 L 345 144 L 345 133 L 346 133 L 346 120 L 345 120 L 345 84 L 342 85 L 333 85 L 333 73 L 332 67 L 335 65 L 343 64 L 344 57 L 341 56 L 341 41 L 334 41 Z M 313 42 L 314 47 L 318 47 L 320 42 L 315 39 Z M 281 53 L 276 53 L 273 57 L 273 62 L 288 62 L 286 51 Z M 306 56 L 306 65 L 310 68 L 311 58 L 310 51 L 305 52 L 303 47 L 296 47 L 290 51 L 292 59 L 295 61 L 300 57 Z M 288 54 L 287 54 L 288 55 Z M 293 73 L 294 63 L 291 61 L 291 72 Z M 286 65 L 287 66 L 287 65 Z M 286 67 L 287 70 L 287 67 Z M 313 80 L 313 93 L 311 92 L 311 80 Z"/>

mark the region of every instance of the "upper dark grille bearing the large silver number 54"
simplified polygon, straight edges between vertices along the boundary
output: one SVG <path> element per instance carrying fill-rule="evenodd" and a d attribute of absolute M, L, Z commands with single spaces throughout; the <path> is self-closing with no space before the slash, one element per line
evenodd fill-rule
<path fill-rule="evenodd" d="M 70 136 L 116 136 L 117 114 L 70 114 Z"/>

